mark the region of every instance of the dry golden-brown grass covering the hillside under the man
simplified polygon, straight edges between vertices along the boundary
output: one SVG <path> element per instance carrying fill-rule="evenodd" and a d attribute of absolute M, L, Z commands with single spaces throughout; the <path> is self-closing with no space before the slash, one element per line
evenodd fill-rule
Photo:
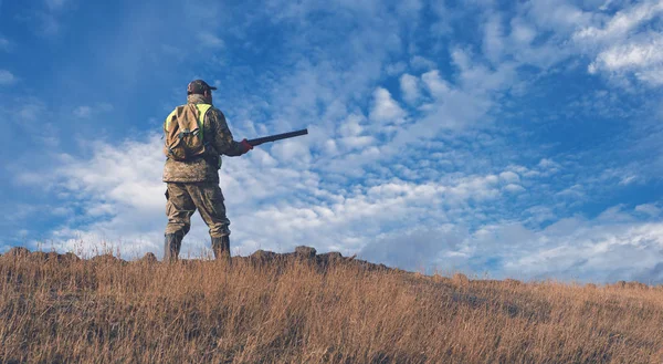
<path fill-rule="evenodd" d="M 0 257 L 2 363 L 662 363 L 663 289 Z"/>

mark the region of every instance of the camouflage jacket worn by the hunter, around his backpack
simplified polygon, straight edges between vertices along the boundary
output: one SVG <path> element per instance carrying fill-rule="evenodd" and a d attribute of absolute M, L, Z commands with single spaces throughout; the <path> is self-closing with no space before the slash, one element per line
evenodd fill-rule
<path fill-rule="evenodd" d="M 189 104 L 206 104 L 202 95 L 189 95 Z M 204 117 L 203 142 L 207 144 L 202 158 L 178 162 L 166 159 L 164 167 L 165 183 L 219 183 L 219 168 L 221 155 L 239 156 L 242 154 L 242 144 L 233 141 L 228 128 L 225 116 L 217 107 L 211 107 Z"/>

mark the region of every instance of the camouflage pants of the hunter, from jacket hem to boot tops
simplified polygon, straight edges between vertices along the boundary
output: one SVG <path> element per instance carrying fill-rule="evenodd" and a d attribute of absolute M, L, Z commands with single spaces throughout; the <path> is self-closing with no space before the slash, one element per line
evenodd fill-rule
<path fill-rule="evenodd" d="M 228 226 L 230 220 L 225 216 L 223 194 L 221 187 L 215 183 L 168 183 L 166 191 L 166 215 L 168 225 L 166 233 L 189 232 L 191 228 L 191 215 L 200 214 L 202 220 L 210 228 L 212 238 L 221 238 L 230 235 Z"/>

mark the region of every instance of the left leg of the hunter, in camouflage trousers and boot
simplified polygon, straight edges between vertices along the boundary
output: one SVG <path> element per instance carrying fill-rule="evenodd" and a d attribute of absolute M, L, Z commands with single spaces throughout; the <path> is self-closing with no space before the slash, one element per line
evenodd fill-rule
<path fill-rule="evenodd" d="M 191 228 L 191 215 L 196 212 L 196 204 L 187 191 L 186 184 L 167 184 L 166 215 L 168 225 L 164 242 L 164 261 L 175 261 L 179 257 L 182 239 Z"/>

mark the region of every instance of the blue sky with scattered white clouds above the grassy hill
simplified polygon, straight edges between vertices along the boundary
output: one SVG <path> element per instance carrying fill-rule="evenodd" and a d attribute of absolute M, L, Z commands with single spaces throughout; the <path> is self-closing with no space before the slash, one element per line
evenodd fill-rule
<path fill-rule="evenodd" d="M 161 254 L 160 127 L 219 87 L 235 254 L 663 282 L 662 1 L 0 1 L 0 251 Z M 193 220 L 185 253 L 209 246 Z"/>

